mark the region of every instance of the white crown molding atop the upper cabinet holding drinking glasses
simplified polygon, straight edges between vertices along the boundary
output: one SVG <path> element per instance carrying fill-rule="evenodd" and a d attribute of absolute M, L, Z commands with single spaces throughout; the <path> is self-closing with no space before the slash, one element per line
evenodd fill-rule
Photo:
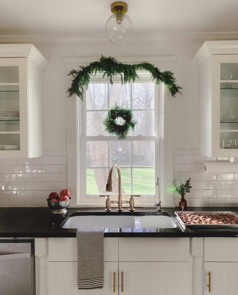
<path fill-rule="evenodd" d="M 238 40 L 205 41 L 193 57 L 193 62 L 200 66 L 213 54 L 237 54 Z"/>

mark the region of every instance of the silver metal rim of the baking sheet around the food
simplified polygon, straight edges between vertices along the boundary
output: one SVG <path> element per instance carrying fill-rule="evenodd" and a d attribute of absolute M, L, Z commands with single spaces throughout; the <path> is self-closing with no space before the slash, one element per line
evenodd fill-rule
<path fill-rule="evenodd" d="M 229 214 L 235 217 L 238 220 L 238 215 L 232 211 L 175 211 L 175 215 L 177 216 L 180 224 L 184 227 L 186 226 L 193 226 L 193 227 L 238 227 L 238 224 L 191 224 L 191 223 L 184 223 L 180 218 L 180 214 L 200 214 L 200 215 L 217 215 L 217 214 Z"/>

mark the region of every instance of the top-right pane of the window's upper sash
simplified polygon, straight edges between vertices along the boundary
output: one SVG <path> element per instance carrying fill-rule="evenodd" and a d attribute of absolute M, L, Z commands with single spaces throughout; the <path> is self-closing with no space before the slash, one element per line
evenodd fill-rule
<path fill-rule="evenodd" d="M 154 83 L 132 83 L 132 108 L 153 109 L 155 96 Z"/>

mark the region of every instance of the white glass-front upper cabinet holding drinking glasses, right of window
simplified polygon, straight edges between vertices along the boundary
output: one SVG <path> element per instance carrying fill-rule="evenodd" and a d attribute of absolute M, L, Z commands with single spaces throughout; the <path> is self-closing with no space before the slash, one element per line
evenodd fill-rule
<path fill-rule="evenodd" d="M 199 66 L 199 155 L 238 156 L 238 41 L 206 41 Z"/>

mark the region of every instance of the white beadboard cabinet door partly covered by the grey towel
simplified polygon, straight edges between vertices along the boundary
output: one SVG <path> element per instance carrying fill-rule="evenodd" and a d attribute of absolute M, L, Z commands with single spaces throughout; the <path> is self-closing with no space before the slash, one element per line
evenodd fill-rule
<path fill-rule="evenodd" d="M 49 262 L 50 295 L 112 295 L 118 294 L 118 263 L 104 262 L 103 289 L 78 290 L 77 262 Z M 115 292 L 113 292 L 113 272 L 115 271 Z"/>

